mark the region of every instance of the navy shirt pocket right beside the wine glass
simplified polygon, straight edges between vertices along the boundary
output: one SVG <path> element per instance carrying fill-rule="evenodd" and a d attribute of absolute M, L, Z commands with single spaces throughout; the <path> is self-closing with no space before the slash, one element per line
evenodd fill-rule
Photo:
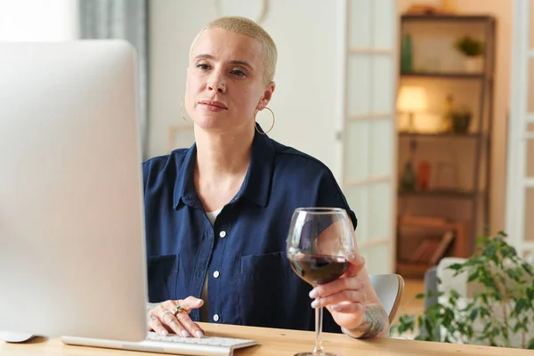
<path fill-rule="evenodd" d="M 285 252 L 241 257 L 239 309 L 245 325 L 287 328 L 292 324 L 287 318 L 295 314 L 286 304 L 294 289 L 290 273 L 294 272 Z"/>

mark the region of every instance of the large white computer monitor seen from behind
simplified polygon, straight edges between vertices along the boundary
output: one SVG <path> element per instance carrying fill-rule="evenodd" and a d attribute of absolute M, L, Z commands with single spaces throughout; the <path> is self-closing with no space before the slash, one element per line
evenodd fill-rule
<path fill-rule="evenodd" d="M 0 44 L 0 330 L 146 336 L 134 73 L 123 41 Z"/>

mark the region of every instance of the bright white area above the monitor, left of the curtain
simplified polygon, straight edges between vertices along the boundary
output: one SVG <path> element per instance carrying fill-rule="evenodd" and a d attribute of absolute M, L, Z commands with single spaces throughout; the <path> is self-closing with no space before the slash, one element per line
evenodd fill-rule
<path fill-rule="evenodd" d="M 76 0 L 0 0 L 0 41 L 68 41 L 77 24 Z"/>

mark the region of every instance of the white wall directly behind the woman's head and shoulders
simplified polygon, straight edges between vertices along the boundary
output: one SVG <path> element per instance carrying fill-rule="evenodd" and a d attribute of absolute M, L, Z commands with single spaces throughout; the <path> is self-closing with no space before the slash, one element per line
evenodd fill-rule
<path fill-rule="evenodd" d="M 230 0 L 221 1 L 230 6 Z M 238 1 L 241 12 L 255 17 L 259 1 Z M 237 4 L 235 1 L 233 4 Z M 340 0 L 270 0 L 261 23 L 279 50 L 276 91 L 270 107 L 276 125 L 270 136 L 319 158 L 339 181 L 340 88 L 344 53 L 339 36 Z M 180 101 L 185 90 L 190 43 L 209 20 L 220 16 L 213 0 L 150 1 L 150 139 L 149 157 L 165 154 L 169 125 L 185 124 Z M 260 117 L 265 129 L 270 117 Z M 265 127 L 267 126 L 267 127 Z"/>

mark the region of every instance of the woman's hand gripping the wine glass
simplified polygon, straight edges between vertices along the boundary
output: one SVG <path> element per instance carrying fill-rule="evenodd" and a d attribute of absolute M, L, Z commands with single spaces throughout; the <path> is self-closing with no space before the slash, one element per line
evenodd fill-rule
<path fill-rule="evenodd" d="M 345 329 L 358 328 L 366 321 L 365 260 L 361 255 L 351 257 L 347 260 L 349 268 L 340 278 L 317 285 L 310 292 L 315 299 L 312 307 L 327 307 L 337 325 Z"/>

